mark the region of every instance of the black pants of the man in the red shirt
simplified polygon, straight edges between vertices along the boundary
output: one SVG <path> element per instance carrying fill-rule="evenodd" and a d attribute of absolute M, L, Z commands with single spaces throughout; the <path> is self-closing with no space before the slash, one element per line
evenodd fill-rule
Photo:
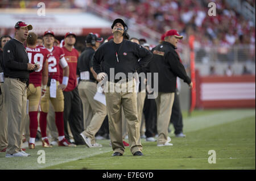
<path fill-rule="evenodd" d="M 81 99 L 77 87 L 72 91 L 63 91 L 64 94 L 64 134 L 69 141 L 68 123 L 73 134 L 76 145 L 84 145 L 84 140 L 80 133 L 84 131 L 82 121 Z"/>

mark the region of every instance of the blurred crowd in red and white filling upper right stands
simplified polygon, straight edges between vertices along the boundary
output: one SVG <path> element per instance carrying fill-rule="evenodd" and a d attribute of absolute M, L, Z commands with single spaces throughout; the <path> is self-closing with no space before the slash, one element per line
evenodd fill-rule
<path fill-rule="evenodd" d="M 203 45 L 254 44 L 255 27 L 225 1 L 126 1 L 94 0 L 99 6 L 133 19 L 157 32 L 176 28 L 183 36 L 191 31 Z M 216 3 L 216 16 L 208 16 L 208 3 Z M 255 7 L 255 1 L 247 1 Z M 246 35 L 246 36 L 245 36 Z"/>

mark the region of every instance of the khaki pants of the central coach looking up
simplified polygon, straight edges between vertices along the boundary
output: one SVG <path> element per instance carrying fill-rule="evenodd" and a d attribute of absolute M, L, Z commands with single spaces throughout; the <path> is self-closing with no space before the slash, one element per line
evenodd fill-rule
<path fill-rule="evenodd" d="M 112 88 L 111 88 L 112 87 Z M 113 87 L 126 87 L 121 92 L 114 91 Z M 142 151 L 141 138 L 139 134 L 139 120 L 137 112 L 137 93 L 135 92 L 135 80 L 123 83 L 106 82 L 104 87 L 106 95 L 106 108 L 109 118 L 109 136 L 114 152 L 124 153 L 122 139 L 122 108 L 125 113 L 128 128 L 128 137 L 131 153 Z M 107 89 L 107 90 L 106 90 Z M 130 92 L 130 90 L 133 90 Z"/>

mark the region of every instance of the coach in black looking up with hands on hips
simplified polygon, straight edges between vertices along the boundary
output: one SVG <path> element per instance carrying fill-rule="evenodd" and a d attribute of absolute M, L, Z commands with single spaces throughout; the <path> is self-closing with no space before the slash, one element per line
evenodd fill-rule
<path fill-rule="evenodd" d="M 137 43 L 124 40 L 125 32 L 127 32 L 125 22 L 122 19 L 115 19 L 112 24 L 114 39 L 97 49 L 93 56 L 93 69 L 98 74 L 97 79 L 104 79 L 108 75 L 104 92 L 109 117 L 110 140 L 114 150 L 113 156 L 121 156 L 125 151 L 122 140 L 122 108 L 128 124 L 131 153 L 141 156 L 143 154 L 139 134 L 137 92 L 133 74 L 138 70 L 137 64 L 142 69 L 147 66 L 152 53 Z M 139 58 L 141 60 L 138 62 Z M 123 87 L 125 88 L 122 89 Z"/>

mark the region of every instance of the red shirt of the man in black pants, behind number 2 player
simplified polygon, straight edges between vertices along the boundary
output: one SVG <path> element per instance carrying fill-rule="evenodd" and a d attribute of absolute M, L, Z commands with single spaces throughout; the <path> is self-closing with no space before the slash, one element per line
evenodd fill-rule
<path fill-rule="evenodd" d="M 67 48 L 62 47 L 65 53 L 65 60 L 68 62 L 69 66 L 69 77 L 68 77 L 68 86 L 64 91 L 72 91 L 76 88 L 76 68 L 77 68 L 77 60 L 79 57 L 79 52 L 73 48 L 70 52 Z M 62 82 L 63 78 L 63 69 L 60 67 L 60 80 Z"/>

